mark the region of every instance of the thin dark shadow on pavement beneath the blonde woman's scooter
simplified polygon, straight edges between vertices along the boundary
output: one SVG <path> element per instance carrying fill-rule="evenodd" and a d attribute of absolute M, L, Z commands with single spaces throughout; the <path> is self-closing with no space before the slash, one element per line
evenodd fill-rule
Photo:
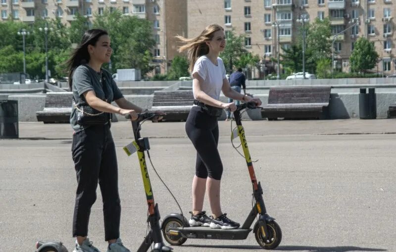
<path fill-rule="evenodd" d="M 260 246 L 238 246 L 238 245 L 183 245 L 183 247 L 193 248 L 217 248 L 217 249 L 233 249 L 233 250 L 261 250 Z M 349 252 L 349 251 L 388 251 L 384 249 L 360 248 L 354 246 L 340 247 L 312 247 L 312 246 L 279 246 L 275 250 L 280 251 L 309 251 L 309 252 Z"/>

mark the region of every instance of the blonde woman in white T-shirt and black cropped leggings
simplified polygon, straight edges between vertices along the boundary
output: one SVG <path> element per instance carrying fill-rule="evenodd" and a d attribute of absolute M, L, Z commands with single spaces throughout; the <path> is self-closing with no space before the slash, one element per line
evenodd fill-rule
<path fill-rule="evenodd" d="M 190 72 L 193 76 L 194 106 L 186 121 L 186 132 L 197 150 L 196 173 L 193 179 L 193 211 L 189 220 L 191 226 L 235 229 L 239 223 L 229 219 L 220 205 L 220 182 L 223 164 L 217 144 L 219 128 L 217 118 L 222 110 L 235 111 L 233 102 L 219 101 L 220 91 L 233 100 L 253 101 L 261 105 L 259 99 L 242 95 L 230 87 L 226 78 L 223 60 L 219 57 L 225 49 L 224 29 L 217 24 L 207 26 L 194 39 L 178 38 L 184 43 L 180 52 L 187 51 Z M 211 218 L 202 210 L 205 191 L 212 211 Z"/>

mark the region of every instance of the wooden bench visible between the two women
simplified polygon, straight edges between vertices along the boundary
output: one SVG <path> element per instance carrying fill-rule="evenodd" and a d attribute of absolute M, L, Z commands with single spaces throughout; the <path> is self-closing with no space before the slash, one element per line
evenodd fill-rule
<path fill-rule="evenodd" d="M 165 112 L 163 121 L 185 121 L 193 102 L 192 90 L 155 91 L 150 110 Z"/>

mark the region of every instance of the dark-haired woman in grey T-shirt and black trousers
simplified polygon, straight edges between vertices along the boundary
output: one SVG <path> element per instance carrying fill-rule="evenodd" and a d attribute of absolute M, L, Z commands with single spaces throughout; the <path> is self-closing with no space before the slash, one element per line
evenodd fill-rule
<path fill-rule="evenodd" d="M 73 216 L 73 237 L 77 238 L 74 252 L 99 251 L 87 238 L 91 207 L 97 198 L 98 182 L 103 200 L 107 251 L 129 252 L 120 239 L 118 168 L 110 124 L 112 113 L 130 114 L 132 120 L 136 120 L 137 113 L 143 109 L 127 101 L 111 78 L 111 74 L 101 67 L 103 63 L 110 61 L 111 53 L 107 32 L 92 29 L 85 32 L 81 44 L 66 62 L 69 87 L 74 100 L 70 124 L 74 130 L 72 157 L 78 184 Z M 112 101 L 119 107 L 112 105 Z M 82 118 L 90 117 L 92 121 L 99 118 L 99 115 L 103 116 L 103 113 L 106 116 L 104 121 L 100 122 L 88 124 Z"/>

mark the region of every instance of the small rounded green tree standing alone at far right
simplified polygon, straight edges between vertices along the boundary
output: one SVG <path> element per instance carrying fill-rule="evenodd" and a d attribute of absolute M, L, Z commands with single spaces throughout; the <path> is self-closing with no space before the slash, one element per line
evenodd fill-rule
<path fill-rule="evenodd" d="M 352 72 L 365 73 L 377 64 L 378 53 L 374 48 L 374 43 L 364 37 L 360 37 L 354 46 L 349 57 L 350 70 Z"/>

